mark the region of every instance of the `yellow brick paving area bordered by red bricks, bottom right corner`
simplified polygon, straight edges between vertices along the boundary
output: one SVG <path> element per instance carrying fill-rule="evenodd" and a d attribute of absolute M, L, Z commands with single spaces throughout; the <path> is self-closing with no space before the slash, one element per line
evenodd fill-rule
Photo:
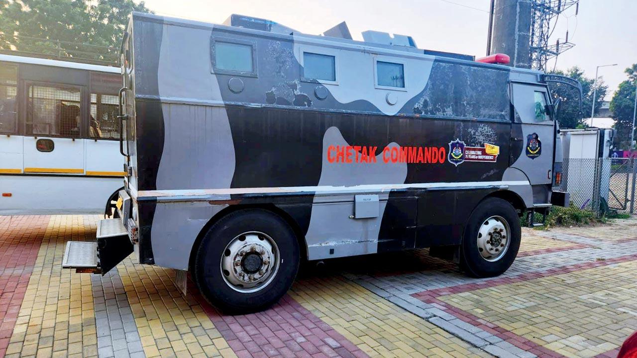
<path fill-rule="evenodd" d="M 637 329 L 637 261 L 439 299 L 566 357 L 594 357 Z"/>

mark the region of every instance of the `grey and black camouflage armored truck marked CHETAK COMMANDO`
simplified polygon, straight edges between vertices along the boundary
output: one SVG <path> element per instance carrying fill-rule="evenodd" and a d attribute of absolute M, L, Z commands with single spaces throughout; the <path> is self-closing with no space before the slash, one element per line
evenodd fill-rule
<path fill-rule="evenodd" d="M 505 272 L 520 218 L 568 203 L 546 76 L 363 38 L 132 13 L 119 218 L 69 243 L 64 266 L 104 274 L 134 252 L 243 313 L 282 297 L 301 261 L 429 248 L 468 275 Z"/>

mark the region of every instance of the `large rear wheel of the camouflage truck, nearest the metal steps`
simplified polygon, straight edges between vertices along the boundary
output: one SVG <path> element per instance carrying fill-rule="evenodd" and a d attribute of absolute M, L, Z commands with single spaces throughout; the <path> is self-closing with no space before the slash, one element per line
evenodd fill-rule
<path fill-rule="evenodd" d="M 199 290 L 228 313 L 261 311 L 290 289 L 299 269 L 292 228 L 261 209 L 230 213 L 204 237 L 195 259 Z"/>

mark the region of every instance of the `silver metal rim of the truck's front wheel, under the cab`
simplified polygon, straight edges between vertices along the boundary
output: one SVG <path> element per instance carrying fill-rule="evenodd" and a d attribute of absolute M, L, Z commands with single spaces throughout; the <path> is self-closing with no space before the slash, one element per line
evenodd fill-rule
<path fill-rule="evenodd" d="M 505 218 L 492 216 L 484 220 L 478 230 L 478 251 L 482 258 L 490 262 L 501 259 L 510 246 L 510 234 Z"/>

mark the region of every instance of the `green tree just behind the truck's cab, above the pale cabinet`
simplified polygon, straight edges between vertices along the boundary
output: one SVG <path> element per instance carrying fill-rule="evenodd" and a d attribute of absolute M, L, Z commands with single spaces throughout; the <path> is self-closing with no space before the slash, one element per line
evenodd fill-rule
<path fill-rule="evenodd" d="M 569 68 L 568 70 L 566 70 L 566 72 L 557 70 L 553 71 L 552 73 L 554 75 L 568 76 L 582 83 L 583 113 L 580 113 L 580 99 L 578 90 L 561 83 L 549 84 L 553 97 L 555 97 L 555 99 L 559 98 L 562 100 L 557 111 L 557 121 L 559 122 L 560 127 L 576 128 L 578 127 L 578 125 L 582 127 L 586 124 L 585 118 L 589 118 L 590 115 L 590 106 L 592 105 L 594 90 L 593 83 L 595 82 L 595 79 L 584 76 L 584 71 L 577 66 Z M 598 111 L 601 107 L 601 102 L 603 101 L 604 97 L 606 96 L 606 92 L 608 91 L 608 86 L 604 84 L 601 78 L 598 78 L 597 87 L 598 89 L 595 95 L 595 111 Z"/>

